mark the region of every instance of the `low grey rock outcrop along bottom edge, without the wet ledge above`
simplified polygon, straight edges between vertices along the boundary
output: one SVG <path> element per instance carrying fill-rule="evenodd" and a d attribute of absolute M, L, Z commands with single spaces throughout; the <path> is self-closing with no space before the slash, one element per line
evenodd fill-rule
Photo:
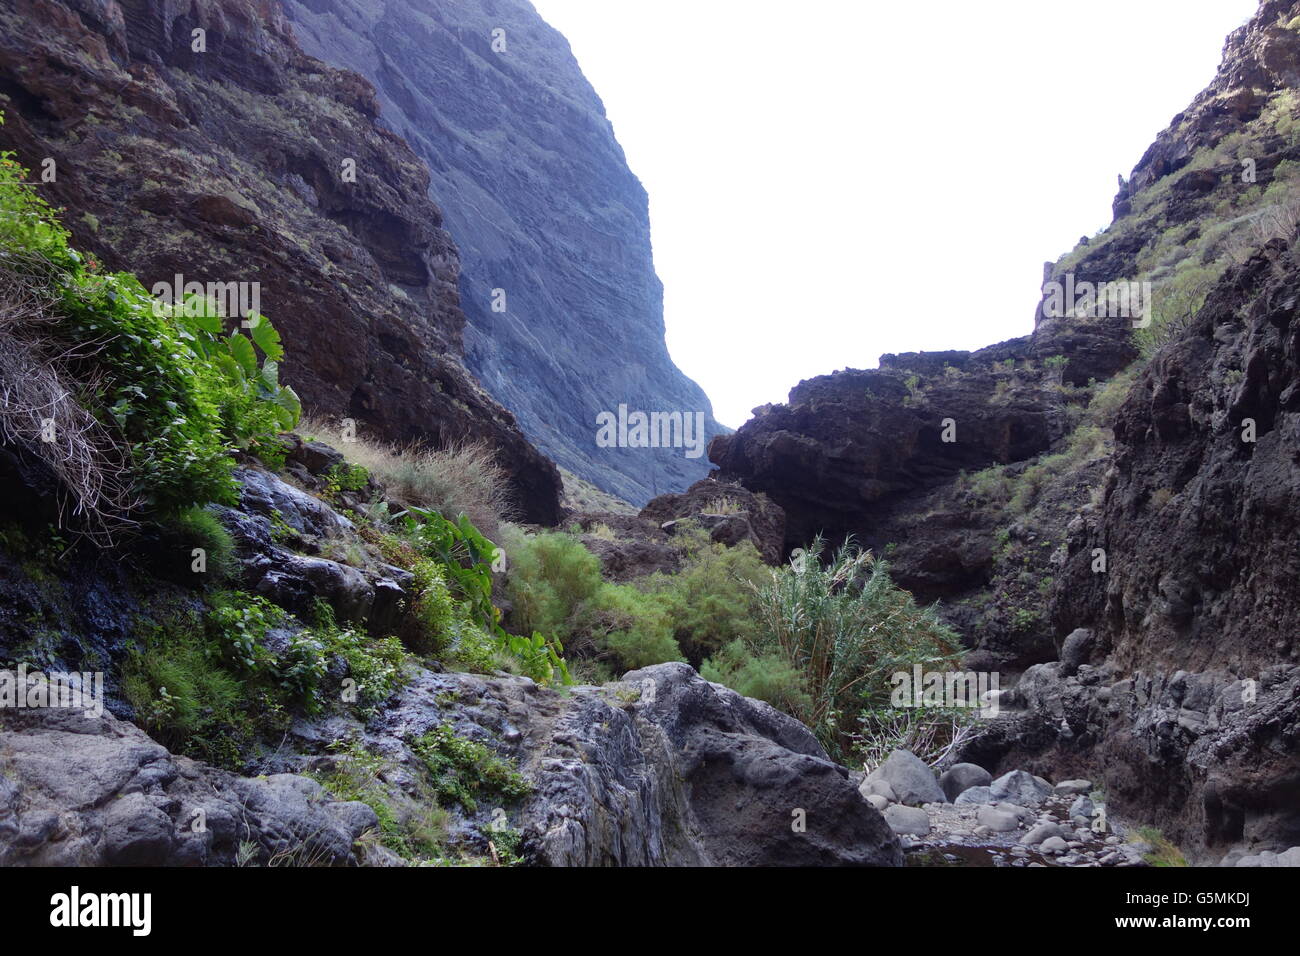
<path fill-rule="evenodd" d="M 564 695 L 420 670 L 364 723 L 295 723 L 259 777 L 176 757 L 107 711 L 5 710 L 0 865 L 399 862 L 363 839 L 378 827 L 370 806 L 303 773 L 328 771 L 328 745 L 346 736 L 382 754 L 390 805 L 410 805 L 412 741 L 442 726 L 512 757 L 532 791 L 508 810 L 458 810 L 455 836 L 485 843 L 508 821 L 537 865 L 902 864 L 884 818 L 806 727 L 659 665 Z"/>

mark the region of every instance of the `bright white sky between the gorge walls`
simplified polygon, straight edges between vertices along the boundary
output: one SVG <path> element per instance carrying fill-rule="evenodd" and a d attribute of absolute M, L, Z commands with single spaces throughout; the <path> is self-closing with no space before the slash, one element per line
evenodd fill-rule
<path fill-rule="evenodd" d="M 533 0 L 650 193 L 668 349 L 737 427 L 1032 328 L 1256 0 Z"/>

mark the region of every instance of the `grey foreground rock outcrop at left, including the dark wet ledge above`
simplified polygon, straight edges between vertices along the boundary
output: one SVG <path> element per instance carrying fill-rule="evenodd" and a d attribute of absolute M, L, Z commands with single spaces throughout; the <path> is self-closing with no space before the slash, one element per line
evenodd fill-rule
<path fill-rule="evenodd" d="M 286 476 L 315 479 L 335 455 L 295 442 Z M 248 653 L 266 665 L 317 641 L 300 622 L 321 605 L 358 633 L 403 633 L 410 572 L 285 476 L 255 466 L 235 476 L 238 503 L 214 509 L 235 544 L 233 583 L 298 615 Z M 159 568 L 190 567 L 182 542 L 136 546 L 156 551 Z M 121 663 L 139 649 L 148 606 L 200 604 L 198 575 L 172 584 L 133 574 L 134 558 L 73 559 L 64 580 L 9 548 L 0 541 L 0 661 L 73 672 L 94 662 L 105 709 L 0 708 L 3 865 L 400 865 L 385 829 L 432 814 L 445 814 L 448 853 L 485 860 L 506 829 L 521 861 L 551 866 L 902 862 L 854 775 L 803 724 L 684 663 L 556 689 L 408 658 L 382 700 L 363 708 L 321 693 L 277 724 L 274 745 L 222 750 L 239 773 L 176 756 L 127 723 L 151 726 L 121 692 Z M 368 680 L 346 656 L 322 665 L 332 684 Z M 12 695 L 6 678 L 0 692 Z M 436 791 L 430 734 L 484 748 L 472 754 L 478 770 L 508 761 L 523 784 L 460 800 Z M 354 761 L 364 783 L 347 775 Z M 363 801 L 332 796 L 341 775 Z"/>

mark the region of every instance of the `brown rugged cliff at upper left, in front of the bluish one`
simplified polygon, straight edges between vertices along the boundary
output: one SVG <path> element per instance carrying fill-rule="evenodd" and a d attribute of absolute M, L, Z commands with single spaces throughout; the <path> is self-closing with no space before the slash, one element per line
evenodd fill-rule
<path fill-rule="evenodd" d="M 53 172 L 39 189 L 78 245 L 146 286 L 256 284 L 309 411 L 390 441 L 488 441 L 524 515 L 558 520 L 554 464 L 463 365 L 428 170 L 277 5 L 17 0 L 0 95 L 0 144 Z"/>

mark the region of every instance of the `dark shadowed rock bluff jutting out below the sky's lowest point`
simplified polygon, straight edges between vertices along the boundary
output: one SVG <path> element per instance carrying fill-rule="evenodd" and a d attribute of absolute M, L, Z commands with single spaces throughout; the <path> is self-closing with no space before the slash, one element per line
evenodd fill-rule
<path fill-rule="evenodd" d="M 879 369 L 800 382 L 786 405 L 764 406 L 738 432 L 715 438 L 720 476 L 785 509 L 785 544 L 855 535 L 878 545 L 885 516 L 963 470 L 1019 462 L 1063 431 L 1037 376 L 993 403 L 992 363 L 1023 362 L 1028 339 L 979 352 L 887 355 Z M 944 440 L 944 420 L 956 441 Z M 883 546 L 885 541 L 879 541 Z"/>

